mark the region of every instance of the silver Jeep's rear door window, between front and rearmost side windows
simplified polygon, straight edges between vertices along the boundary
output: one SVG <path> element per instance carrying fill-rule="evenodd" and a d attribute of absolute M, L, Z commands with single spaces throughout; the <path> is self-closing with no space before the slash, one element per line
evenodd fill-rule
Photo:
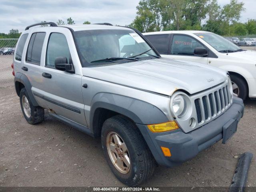
<path fill-rule="evenodd" d="M 40 65 L 42 47 L 44 43 L 44 32 L 33 33 L 27 50 L 26 61 Z"/>

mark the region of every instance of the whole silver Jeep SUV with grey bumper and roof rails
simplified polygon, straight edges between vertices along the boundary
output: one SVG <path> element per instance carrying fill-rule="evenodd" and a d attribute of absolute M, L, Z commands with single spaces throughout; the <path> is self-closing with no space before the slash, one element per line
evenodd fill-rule
<path fill-rule="evenodd" d="M 14 53 L 15 88 L 30 124 L 44 110 L 101 137 L 112 172 L 136 186 L 236 132 L 243 116 L 228 74 L 161 58 L 138 30 L 110 24 L 31 28 Z"/>

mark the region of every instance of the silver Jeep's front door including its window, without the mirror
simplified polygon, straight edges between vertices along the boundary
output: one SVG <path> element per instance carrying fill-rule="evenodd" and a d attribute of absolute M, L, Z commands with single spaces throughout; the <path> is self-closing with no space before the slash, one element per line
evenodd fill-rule
<path fill-rule="evenodd" d="M 69 42 L 66 35 L 69 35 Z M 33 91 L 38 100 L 45 102 L 47 108 L 54 113 L 87 126 L 82 97 L 82 75 L 78 72 L 77 60 L 73 60 L 77 58 L 74 54 L 76 49 L 73 48 L 73 52 L 70 52 L 70 47 L 74 46 L 70 45 L 71 39 L 73 40 L 68 29 L 56 28 L 56 32 L 47 33 L 43 49 L 44 63 L 41 64 L 42 69 L 38 74 L 41 86 Z M 54 67 L 57 57 L 66 57 L 69 63 L 73 63 L 75 73 L 57 70 Z"/>

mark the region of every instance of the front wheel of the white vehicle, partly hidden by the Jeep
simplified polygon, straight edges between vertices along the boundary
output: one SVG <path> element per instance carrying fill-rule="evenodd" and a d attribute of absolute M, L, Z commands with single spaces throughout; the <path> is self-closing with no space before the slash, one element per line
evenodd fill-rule
<path fill-rule="evenodd" d="M 246 82 L 239 76 L 231 74 L 230 75 L 233 87 L 233 93 L 236 94 L 243 101 L 248 97 L 248 88 Z"/>

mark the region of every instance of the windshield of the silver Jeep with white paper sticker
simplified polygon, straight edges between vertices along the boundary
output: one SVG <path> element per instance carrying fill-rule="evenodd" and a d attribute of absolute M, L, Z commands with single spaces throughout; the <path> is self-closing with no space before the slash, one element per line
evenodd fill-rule
<path fill-rule="evenodd" d="M 74 37 L 83 66 L 158 58 L 134 30 L 83 30 Z"/>

